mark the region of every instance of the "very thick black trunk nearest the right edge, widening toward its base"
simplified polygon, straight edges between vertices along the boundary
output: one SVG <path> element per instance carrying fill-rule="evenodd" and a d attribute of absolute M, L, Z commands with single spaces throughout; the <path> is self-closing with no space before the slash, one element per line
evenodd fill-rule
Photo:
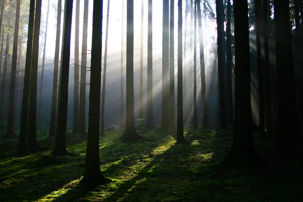
<path fill-rule="evenodd" d="M 291 32 L 289 21 L 289 1 L 274 0 L 278 130 L 275 151 L 289 154 L 295 145 L 302 143 L 295 116 L 295 92 L 292 62 Z M 287 71 L 285 68 L 287 67 Z"/>

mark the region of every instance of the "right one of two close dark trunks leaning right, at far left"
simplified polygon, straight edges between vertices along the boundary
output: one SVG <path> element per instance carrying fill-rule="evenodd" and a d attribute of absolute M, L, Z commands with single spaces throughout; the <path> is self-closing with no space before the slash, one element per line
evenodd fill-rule
<path fill-rule="evenodd" d="M 29 118 L 28 118 L 28 140 L 27 149 L 30 151 L 41 150 L 37 142 L 36 131 L 36 113 L 37 113 L 37 77 L 38 77 L 38 56 L 39 56 L 39 35 L 41 22 L 41 2 L 36 1 L 35 9 L 35 28 L 33 37 L 33 50 L 30 73 L 30 90 L 29 90 Z"/>

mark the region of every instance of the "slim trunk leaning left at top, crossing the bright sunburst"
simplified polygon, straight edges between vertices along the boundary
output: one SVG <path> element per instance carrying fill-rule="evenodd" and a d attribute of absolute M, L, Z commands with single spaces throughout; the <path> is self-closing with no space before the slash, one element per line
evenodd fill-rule
<path fill-rule="evenodd" d="M 206 94 L 206 80 L 205 80 L 205 60 L 204 60 L 204 42 L 202 30 L 202 16 L 200 8 L 200 0 L 196 1 L 198 12 L 198 28 L 199 28 L 199 43 L 200 43 L 200 76 L 201 76 L 201 96 L 202 96 L 202 126 L 209 126 L 208 112 L 207 112 L 207 94 Z"/>

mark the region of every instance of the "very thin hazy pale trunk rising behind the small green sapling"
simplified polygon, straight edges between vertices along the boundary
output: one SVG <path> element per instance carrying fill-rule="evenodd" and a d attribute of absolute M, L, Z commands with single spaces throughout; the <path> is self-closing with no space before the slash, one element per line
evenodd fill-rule
<path fill-rule="evenodd" d="M 144 0 L 141 1 L 141 37 L 140 37 L 140 108 L 139 118 L 143 118 L 143 21 Z"/>

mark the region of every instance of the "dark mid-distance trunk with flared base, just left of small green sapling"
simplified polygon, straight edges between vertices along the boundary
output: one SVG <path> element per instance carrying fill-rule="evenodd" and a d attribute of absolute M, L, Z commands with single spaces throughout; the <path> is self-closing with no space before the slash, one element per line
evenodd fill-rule
<path fill-rule="evenodd" d="M 136 132 L 134 116 L 134 0 L 127 0 L 126 43 L 126 124 L 120 139 L 133 141 L 142 138 Z"/>

